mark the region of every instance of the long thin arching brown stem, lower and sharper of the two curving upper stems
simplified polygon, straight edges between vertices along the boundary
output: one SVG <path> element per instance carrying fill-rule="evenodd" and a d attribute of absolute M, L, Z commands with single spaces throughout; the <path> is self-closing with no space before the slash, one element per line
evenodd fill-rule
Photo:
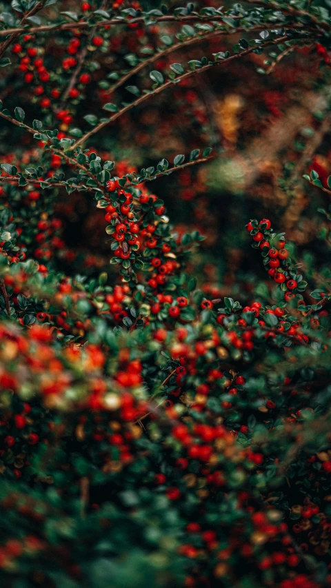
<path fill-rule="evenodd" d="M 277 45 L 278 43 L 283 43 L 287 39 L 288 39 L 288 37 L 285 35 L 285 36 L 279 37 L 277 39 L 266 41 L 261 46 L 263 46 L 263 48 L 265 48 L 270 45 Z M 128 104 L 124 108 L 121 108 L 121 110 L 118 110 L 118 112 L 115 112 L 115 114 L 110 116 L 110 119 L 108 119 L 107 121 L 103 121 L 103 122 L 99 123 L 98 125 L 96 125 L 92 130 L 90 130 L 88 133 L 84 134 L 80 139 L 78 139 L 76 141 L 76 143 L 74 143 L 74 145 L 72 145 L 72 149 L 75 149 L 79 145 L 81 145 L 82 143 L 85 143 L 86 141 L 88 141 L 88 139 L 90 139 L 91 136 L 93 136 L 94 134 L 99 132 L 101 129 L 105 128 L 108 124 L 119 119 L 120 116 L 123 116 L 123 114 L 126 114 L 126 112 L 128 112 L 132 108 L 134 108 L 134 107 L 138 106 L 139 104 L 145 102 L 146 100 L 150 99 L 150 97 L 154 97 L 157 94 L 159 94 L 160 92 L 167 90 L 168 88 L 173 86 L 175 83 L 179 83 L 179 82 L 186 80 L 196 74 L 204 73 L 204 72 L 210 70 L 211 68 L 217 67 L 219 65 L 226 65 L 227 63 L 230 63 L 231 61 L 234 61 L 234 60 L 239 59 L 241 57 L 245 57 L 246 55 L 248 55 L 256 50 L 257 50 L 257 46 L 254 45 L 253 47 L 245 49 L 239 53 L 233 54 L 230 57 L 225 57 L 225 59 L 223 58 L 219 61 L 209 62 L 206 65 L 202 65 L 202 67 L 200 67 L 199 69 L 191 70 L 189 72 L 186 72 L 185 74 L 180 74 L 179 77 L 177 77 L 176 79 L 170 80 L 170 81 L 167 81 L 161 85 L 158 85 L 157 88 L 155 88 L 154 90 L 151 90 L 150 92 L 147 92 L 146 94 L 143 94 L 142 96 L 137 98 L 137 100 L 135 100 L 131 104 Z"/>

